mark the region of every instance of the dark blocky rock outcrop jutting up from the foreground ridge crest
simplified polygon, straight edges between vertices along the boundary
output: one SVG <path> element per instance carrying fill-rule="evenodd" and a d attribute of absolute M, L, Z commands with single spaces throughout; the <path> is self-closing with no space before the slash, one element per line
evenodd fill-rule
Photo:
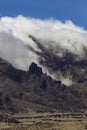
<path fill-rule="evenodd" d="M 39 67 L 36 63 L 32 62 L 30 67 L 29 67 L 29 74 L 41 75 L 42 68 Z"/>

